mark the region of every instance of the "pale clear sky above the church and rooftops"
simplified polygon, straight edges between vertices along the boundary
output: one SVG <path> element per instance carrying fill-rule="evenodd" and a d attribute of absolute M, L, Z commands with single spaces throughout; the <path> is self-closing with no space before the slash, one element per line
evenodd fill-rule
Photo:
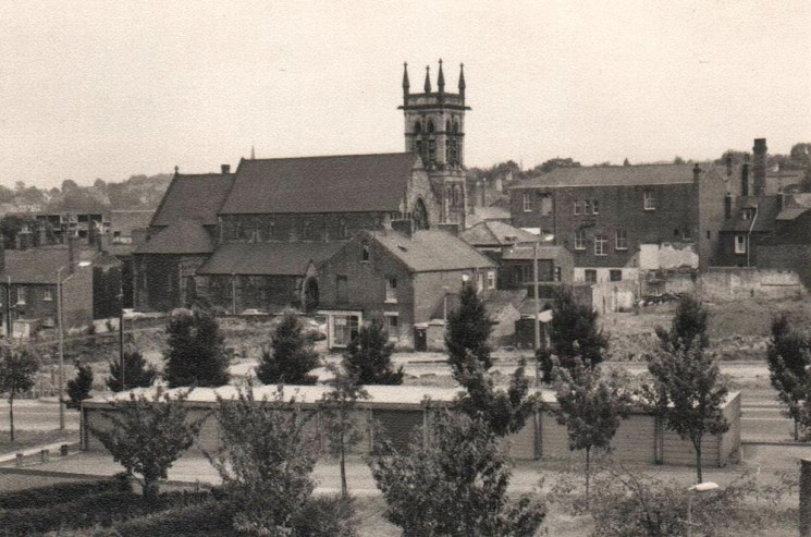
<path fill-rule="evenodd" d="M 808 0 L 0 0 L 0 184 L 404 150 L 465 63 L 468 167 L 811 142 Z"/>

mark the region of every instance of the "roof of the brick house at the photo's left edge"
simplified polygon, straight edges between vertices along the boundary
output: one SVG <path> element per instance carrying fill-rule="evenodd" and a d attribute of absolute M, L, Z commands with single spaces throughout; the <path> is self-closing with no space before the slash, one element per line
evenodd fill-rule
<path fill-rule="evenodd" d="M 78 261 L 89 261 L 99 255 L 94 248 L 78 248 Z M 0 283 L 11 278 L 12 283 L 56 284 L 57 271 L 67 267 L 67 246 L 46 246 L 30 249 L 7 249 L 5 267 L 0 271 Z M 62 279 L 66 277 L 62 270 Z"/>

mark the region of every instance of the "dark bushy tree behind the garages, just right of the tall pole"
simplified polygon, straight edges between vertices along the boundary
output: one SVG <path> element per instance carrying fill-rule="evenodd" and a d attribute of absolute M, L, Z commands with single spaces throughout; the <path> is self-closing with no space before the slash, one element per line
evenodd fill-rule
<path fill-rule="evenodd" d="M 594 367 L 603 361 L 609 349 L 609 339 L 598 328 L 597 319 L 598 313 L 577 304 L 570 291 L 562 290 L 555 294 L 552 320 L 549 324 L 552 346 L 541 347 L 536 353 L 544 382 L 553 380 L 553 357 L 558 366 L 567 369 L 574 369 L 577 359 L 588 367 Z"/>

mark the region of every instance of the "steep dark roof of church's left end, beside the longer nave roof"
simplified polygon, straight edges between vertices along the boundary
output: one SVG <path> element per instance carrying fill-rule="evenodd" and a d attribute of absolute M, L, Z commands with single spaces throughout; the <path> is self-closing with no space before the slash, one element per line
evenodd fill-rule
<path fill-rule="evenodd" d="M 179 220 L 217 224 L 217 211 L 234 183 L 232 173 L 174 174 L 150 225 L 170 225 Z"/>

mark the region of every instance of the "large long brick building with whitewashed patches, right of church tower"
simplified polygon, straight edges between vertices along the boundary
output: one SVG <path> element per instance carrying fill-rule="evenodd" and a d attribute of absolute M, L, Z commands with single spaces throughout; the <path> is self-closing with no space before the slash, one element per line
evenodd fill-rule
<path fill-rule="evenodd" d="M 574 255 L 575 281 L 709 266 L 724 224 L 727 174 L 712 164 L 558 168 L 511 190 L 513 225 Z"/>

